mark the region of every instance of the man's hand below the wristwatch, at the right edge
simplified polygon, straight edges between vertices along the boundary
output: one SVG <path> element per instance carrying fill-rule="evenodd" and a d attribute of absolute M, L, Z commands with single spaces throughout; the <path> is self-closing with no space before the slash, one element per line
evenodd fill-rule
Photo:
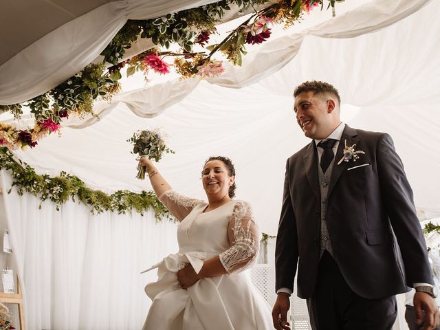
<path fill-rule="evenodd" d="M 414 295 L 415 318 L 422 330 L 433 330 L 439 326 L 439 307 L 434 298 L 425 292 L 416 292 Z"/>

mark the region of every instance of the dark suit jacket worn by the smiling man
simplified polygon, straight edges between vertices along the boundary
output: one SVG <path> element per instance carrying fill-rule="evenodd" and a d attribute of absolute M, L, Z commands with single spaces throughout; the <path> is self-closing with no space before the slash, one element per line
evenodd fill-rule
<path fill-rule="evenodd" d="M 345 140 L 365 154 L 338 165 Z M 287 159 L 276 239 L 276 289 L 293 289 L 298 271 L 300 298 L 314 292 L 320 257 L 317 158 L 312 140 Z M 412 190 L 388 134 L 345 127 L 326 205 L 333 257 L 355 293 L 383 298 L 433 283 Z"/>

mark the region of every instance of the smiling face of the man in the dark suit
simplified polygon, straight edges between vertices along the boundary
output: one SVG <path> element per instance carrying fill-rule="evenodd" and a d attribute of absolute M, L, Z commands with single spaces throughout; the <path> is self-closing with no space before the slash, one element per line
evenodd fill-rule
<path fill-rule="evenodd" d="M 305 91 L 295 98 L 296 122 L 305 136 L 322 140 L 328 135 L 329 112 L 325 96 Z"/>

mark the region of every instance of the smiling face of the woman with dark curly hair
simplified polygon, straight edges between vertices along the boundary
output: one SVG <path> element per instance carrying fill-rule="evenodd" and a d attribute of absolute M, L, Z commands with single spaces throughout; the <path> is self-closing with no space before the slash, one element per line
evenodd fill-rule
<path fill-rule="evenodd" d="M 234 183 L 234 177 L 229 176 L 228 168 L 221 160 L 214 159 L 207 162 L 203 167 L 201 179 L 208 198 L 229 197 L 228 190 Z"/>

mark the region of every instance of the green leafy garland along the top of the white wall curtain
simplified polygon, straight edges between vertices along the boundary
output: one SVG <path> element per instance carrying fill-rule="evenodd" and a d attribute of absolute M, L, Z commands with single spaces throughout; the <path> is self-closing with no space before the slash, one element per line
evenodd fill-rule
<path fill-rule="evenodd" d="M 49 199 L 56 204 L 56 210 L 60 210 L 60 206 L 72 197 L 73 201 L 78 199 L 89 206 L 91 213 L 117 211 L 118 214 L 126 214 L 131 213 L 134 208 L 141 215 L 147 210 L 153 210 L 157 221 L 164 218 L 175 221 L 173 215 L 157 199 L 153 191 L 142 191 L 137 194 L 128 190 L 118 190 L 112 195 L 107 195 L 101 190 L 88 188 L 84 181 L 64 171 L 58 177 L 38 175 L 34 168 L 23 164 L 21 160 L 14 159 L 14 155 L 5 146 L 0 146 L 0 170 L 2 169 L 10 170 L 13 178 L 12 187 L 17 187 L 20 196 L 23 192 L 28 192 L 39 197 L 41 203 Z M 8 193 L 11 192 L 12 187 Z M 263 233 L 261 242 L 265 243 L 274 237 Z"/>

